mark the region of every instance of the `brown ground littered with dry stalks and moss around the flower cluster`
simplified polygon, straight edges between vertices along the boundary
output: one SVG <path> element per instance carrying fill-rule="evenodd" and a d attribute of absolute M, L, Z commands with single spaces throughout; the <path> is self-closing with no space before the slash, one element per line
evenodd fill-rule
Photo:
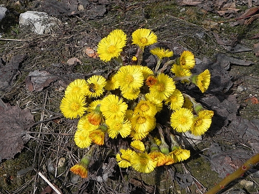
<path fill-rule="evenodd" d="M 232 19 L 249 9 L 249 5 L 242 1 L 230 2 L 239 9 L 232 17 L 227 13 L 219 15 L 217 7 L 209 9 L 208 4 L 191 6 L 177 1 L 0 0 L 9 10 L 0 22 L 0 65 L 7 66 L 15 56 L 24 57 L 10 85 L 0 91 L 0 97 L 5 103 L 29 110 L 36 122 L 26 128 L 30 140 L 25 147 L 13 158 L 0 161 L 0 193 L 50 193 L 46 190 L 48 184 L 38 172 L 63 194 L 205 193 L 258 153 L 258 125 L 255 123 L 259 118 L 259 58 L 254 50 L 258 39 L 251 37 L 259 33 L 259 20 L 233 26 Z M 78 10 L 79 4 L 84 10 Z M 18 24 L 19 14 L 27 10 L 45 11 L 59 18 L 62 25 L 49 34 L 32 33 Z M 60 114 L 60 100 L 66 86 L 74 79 L 107 75 L 115 67 L 113 62 L 104 63 L 89 57 L 87 48 L 96 51 L 98 42 L 113 29 L 122 29 L 130 37 L 138 28 L 154 31 L 158 37 L 155 46 L 169 48 L 174 56 L 179 56 L 183 50 L 192 51 L 197 58 L 195 71 L 204 67 L 212 70 L 211 86 L 205 94 L 188 86 L 200 103 L 215 111 L 212 126 L 199 141 L 193 141 L 197 137 L 184 138 L 186 148 L 191 150 L 190 159 L 158 167 L 149 174 L 120 169 L 115 160 L 118 148 L 111 146 L 120 142 L 109 141 L 95 155 L 89 177 L 81 179 L 69 169 L 81 159 L 85 150 L 75 145 L 73 134 L 77 121 L 65 119 Z M 237 44 L 249 51 L 234 52 Z M 150 48 L 153 47 L 145 49 L 143 55 L 143 64 L 148 66 L 156 62 L 150 57 Z M 136 52 L 130 38 L 126 52 L 129 58 Z M 224 58 L 226 56 L 230 58 Z M 77 61 L 68 64 L 71 58 Z M 26 78 L 35 76 L 32 74 L 35 71 L 45 71 L 50 77 L 38 88 L 30 88 Z M 240 134 L 242 127 L 251 129 L 252 135 Z M 235 168 L 228 169 L 225 165 Z M 259 191 L 258 170 L 258 166 L 253 167 L 223 192 L 256 194 Z M 241 180 L 250 181 L 253 186 L 244 186 Z"/>

